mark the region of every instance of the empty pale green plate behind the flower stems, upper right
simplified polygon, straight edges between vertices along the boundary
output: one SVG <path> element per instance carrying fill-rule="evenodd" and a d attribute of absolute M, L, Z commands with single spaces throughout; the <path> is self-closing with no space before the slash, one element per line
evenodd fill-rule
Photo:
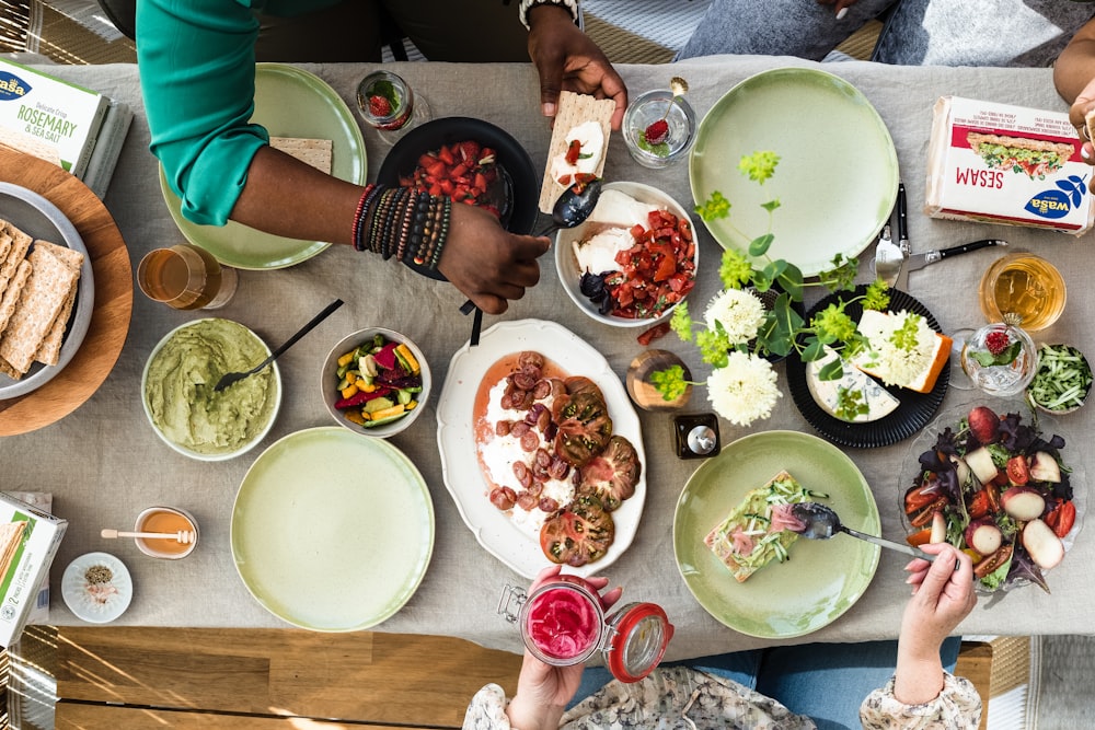
<path fill-rule="evenodd" d="M 761 150 L 780 155 L 763 186 L 738 172 L 741 155 Z M 897 151 L 881 117 L 850 83 L 815 69 L 775 69 L 746 79 L 707 112 L 689 176 L 696 201 L 719 190 L 733 206 L 729 218 L 706 223 L 724 248 L 745 251 L 765 233 L 760 205 L 779 198 L 769 255 L 809 277 L 830 268 L 838 253 L 858 255 L 889 220 Z"/>

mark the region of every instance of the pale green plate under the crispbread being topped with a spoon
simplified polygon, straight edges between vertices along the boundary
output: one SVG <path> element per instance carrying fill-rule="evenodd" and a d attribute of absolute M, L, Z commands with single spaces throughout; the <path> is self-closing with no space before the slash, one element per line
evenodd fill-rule
<path fill-rule="evenodd" d="M 816 631 L 852 607 L 878 567 L 879 548 L 849 535 L 798 540 L 791 559 L 737 582 L 703 538 L 750 489 L 787 470 L 853 530 L 878 534 L 878 508 L 852 460 L 797 431 L 753 433 L 724 447 L 684 485 L 673 518 L 677 567 L 707 613 L 741 634 L 789 638 Z"/>

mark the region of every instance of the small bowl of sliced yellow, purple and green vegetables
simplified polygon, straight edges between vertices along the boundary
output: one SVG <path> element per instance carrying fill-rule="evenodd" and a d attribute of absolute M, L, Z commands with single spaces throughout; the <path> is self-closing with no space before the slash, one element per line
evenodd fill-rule
<path fill-rule="evenodd" d="M 382 439 L 418 418 L 430 384 L 429 366 L 418 346 L 383 327 L 344 337 L 331 348 L 320 376 L 331 417 L 351 431 Z"/>

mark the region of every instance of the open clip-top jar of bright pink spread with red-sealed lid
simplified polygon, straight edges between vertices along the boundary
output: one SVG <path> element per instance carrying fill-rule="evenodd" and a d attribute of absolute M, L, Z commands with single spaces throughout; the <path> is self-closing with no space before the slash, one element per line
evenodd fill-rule
<path fill-rule="evenodd" d="M 621 682 L 654 671 L 673 636 L 661 606 L 629 603 L 608 614 L 598 592 L 577 576 L 558 576 L 531 595 L 507 586 L 498 613 L 518 625 L 525 646 L 545 664 L 579 664 L 600 651 Z"/>

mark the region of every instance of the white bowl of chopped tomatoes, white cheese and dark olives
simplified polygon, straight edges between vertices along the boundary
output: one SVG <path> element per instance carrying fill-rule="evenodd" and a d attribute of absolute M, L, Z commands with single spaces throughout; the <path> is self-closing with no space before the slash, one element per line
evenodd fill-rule
<path fill-rule="evenodd" d="M 614 327 L 670 316 L 692 290 L 698 264 L 688 211 L 642 183 L 606 184 L 589 218 L 555 236 L 563 289 L 591 318 Z"/>

